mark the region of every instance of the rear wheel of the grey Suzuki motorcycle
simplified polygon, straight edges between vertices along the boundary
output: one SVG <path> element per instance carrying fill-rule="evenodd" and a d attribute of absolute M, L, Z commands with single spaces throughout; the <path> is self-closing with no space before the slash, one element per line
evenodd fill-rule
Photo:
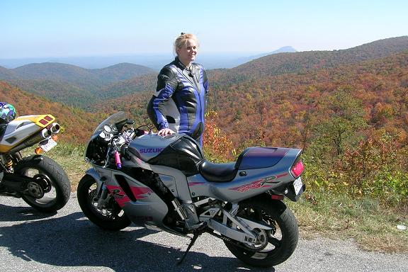
<path fill-rule="evenodd" d="M 254 229 L 268 237 L 264 239 L 263 245 L 249 246 L 225 241 L 229 251 L 244 263 L 259 267 L 276 266 L 286 261 L 295 251 L 299 235 L 297 220 L 283 202 L 267 197 L 251 199 L 239 204 L 237 216 L 273 228 L 268 231 Z"/>

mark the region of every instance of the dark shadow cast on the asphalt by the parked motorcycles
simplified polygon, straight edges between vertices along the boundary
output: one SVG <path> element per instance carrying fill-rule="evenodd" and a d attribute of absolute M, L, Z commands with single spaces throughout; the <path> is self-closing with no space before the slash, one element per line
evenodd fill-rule
<path fill-rule="evenodd" d="M 187 246 L 178 249 L 137 240 L 156 233 L 145 228 L 103 231 L 86 220 L 82 212 L 47 218 L 31 208 L 0 205 L 0 221 L 23 221 L 0 227 L 0 246 L 22 261 L 71 266 L 73 270 L 76 266 L 99 266 L 95 269 L 103 271 L 105 267 L 118 272 L 275 271 L 274 268 L 246 266 L 235 258 L 213 257 L 195 251 L 191 251 L 184 262 L 177 265 Z M 169 235 L 173 239 L 184 239 L 186 244 L 188 242 L 185 238 Z"/>

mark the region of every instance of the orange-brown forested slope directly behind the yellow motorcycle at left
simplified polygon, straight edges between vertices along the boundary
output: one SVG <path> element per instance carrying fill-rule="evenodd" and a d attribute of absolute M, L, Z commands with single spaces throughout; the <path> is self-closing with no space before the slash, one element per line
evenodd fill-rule
<path fill-rule="evenodd" d="M 28 94 L 25 91 L 0 81 L 0 101 L 11 103 L 17 115 L 52 114 L 60 123 L 60 139 L 65 142 L 84 143 L 92 134 L 96 125 L 106 115 L 86 113 L 79 109 L 69 108 L 60 103 Z"/>

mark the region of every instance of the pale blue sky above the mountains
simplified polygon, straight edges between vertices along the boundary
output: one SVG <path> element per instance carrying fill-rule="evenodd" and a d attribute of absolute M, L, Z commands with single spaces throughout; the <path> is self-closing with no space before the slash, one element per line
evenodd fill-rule
<path fill-rule="evenodd" d="M 408 1 L 0 0 L 0 59 L 171 53 L 181 31 L 201 52 L 339 50 L 408 35 Z"/>

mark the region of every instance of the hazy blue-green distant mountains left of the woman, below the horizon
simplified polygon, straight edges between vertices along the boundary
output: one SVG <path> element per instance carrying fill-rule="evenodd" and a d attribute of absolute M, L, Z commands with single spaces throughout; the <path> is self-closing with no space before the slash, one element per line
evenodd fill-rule
<path fill-rule="evenodd" d="M 103 98 L 99 91 L 108 84 L 155 73 L 153 69 L 130 63 L 103 69 L 84 69 L 70 64 L 45 62 L 15 69 L 0 67 L 0 80 L 53 101 L 86 109 L 90 101 Z"/>

